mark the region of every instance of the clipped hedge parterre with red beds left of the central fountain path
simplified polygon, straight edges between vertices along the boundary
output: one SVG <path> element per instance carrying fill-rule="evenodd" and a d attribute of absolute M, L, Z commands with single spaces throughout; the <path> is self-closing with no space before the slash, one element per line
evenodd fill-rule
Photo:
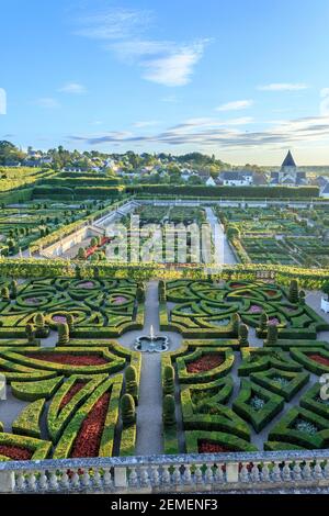
<path fill-rule="evenodd" d="M 11 282 L 0 287 L 0 373 L 26 403 L 12 434 L 0 433 L 0 460 L 134 453 L 136 423 L 122 424 L 121 399 L 132 391 L 138 402 L 140 355 L 101 337 L 143 327 L 137 284 L 45 278 L 19 285 L 15 295 Z M 38 337 L 66 322 L 65 345 L 41 347 Z M 36 329 L 29 341 L 26 324 Z"/>

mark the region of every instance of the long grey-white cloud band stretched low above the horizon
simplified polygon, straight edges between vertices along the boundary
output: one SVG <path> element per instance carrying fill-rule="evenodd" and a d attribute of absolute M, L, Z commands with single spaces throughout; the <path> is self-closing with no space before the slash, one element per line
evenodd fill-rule
<path fill-rule="evenodd" d="M 135 135 L 132 133 L 106 133 L 95 136 L 70 136 L 88 145 L 101 144 L 160 144 L 167 146 L 190 145 L 193 147 L 218 148 L 273 148 L 273 146 L 291 146 L 298 143 L 310 145 L 313 143 L 329 141 L 329 115 L 303 117 L 274 123 L 263 131 L 241 131 L 230 121 L 216 119 L 191 119 L 182 124 L 169 127 L 167 131 L 154 135 Z"/>

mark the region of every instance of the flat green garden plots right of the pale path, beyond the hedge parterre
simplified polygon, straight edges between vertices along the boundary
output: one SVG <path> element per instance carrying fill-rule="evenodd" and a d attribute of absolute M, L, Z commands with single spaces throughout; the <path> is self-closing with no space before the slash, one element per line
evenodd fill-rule
<path fill-rule="evenodd" d="M 328 267 L 328 206 L 230 207 L 217 214 L 239 261 Z"/>

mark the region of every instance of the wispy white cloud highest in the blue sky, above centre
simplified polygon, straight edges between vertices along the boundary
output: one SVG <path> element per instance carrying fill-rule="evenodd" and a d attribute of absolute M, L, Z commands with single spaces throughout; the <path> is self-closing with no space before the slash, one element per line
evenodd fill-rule
<path fill-rule="evenodd" d="M 137 66 L 148 81 L 167 87 L 186 85 L 208 40 L 186 43 L 147 37 L 151 20 L 150 11 L 110 9 L 80 19 L 76 34 L 102 41 L 105 49 L 124 64 Z"/>

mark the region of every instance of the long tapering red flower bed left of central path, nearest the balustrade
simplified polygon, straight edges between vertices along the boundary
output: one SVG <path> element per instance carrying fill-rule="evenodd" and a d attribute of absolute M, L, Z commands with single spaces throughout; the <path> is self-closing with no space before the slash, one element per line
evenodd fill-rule
<path fill-rule="evenodd" d="M 98 457 L 103 427 L 110 403 L 110 393 L 105 392 L 93 405 L 83 420 L 75 440 L 71 458 Z"/>

